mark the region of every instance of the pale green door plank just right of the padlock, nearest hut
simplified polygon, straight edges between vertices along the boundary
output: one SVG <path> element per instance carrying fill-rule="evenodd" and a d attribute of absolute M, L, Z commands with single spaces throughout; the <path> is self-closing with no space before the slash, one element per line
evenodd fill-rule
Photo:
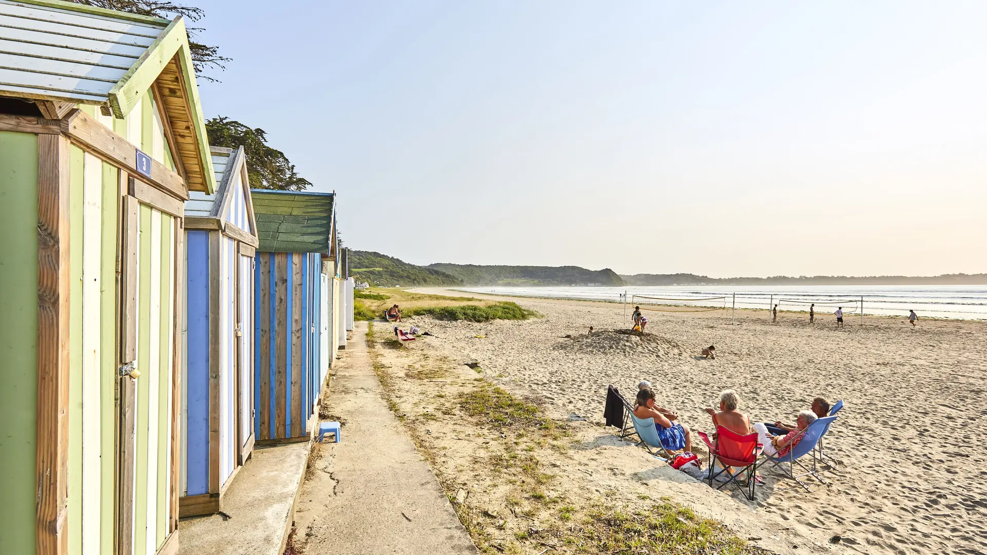
<path fill-rule="evenodd" d="M 140 238 L 138 244 L 137 282 L 137 476 L 134 495 L 134 555 L 147 554 L 147 436 L 148 396 L 151 376 L 151 208 L 141 204 L 139 209 Z"/>

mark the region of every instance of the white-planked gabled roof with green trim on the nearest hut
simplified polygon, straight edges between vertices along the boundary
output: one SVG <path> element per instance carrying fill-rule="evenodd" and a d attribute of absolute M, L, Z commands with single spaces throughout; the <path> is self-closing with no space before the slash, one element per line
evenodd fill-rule
<path fill-rule="evenodd" d="M 0 0 L 0 96 L 48 119 L 77 104 L 122 119 L 157 83 L 190 191 L 214 189 L 185 20 L 60 0 Z"/>

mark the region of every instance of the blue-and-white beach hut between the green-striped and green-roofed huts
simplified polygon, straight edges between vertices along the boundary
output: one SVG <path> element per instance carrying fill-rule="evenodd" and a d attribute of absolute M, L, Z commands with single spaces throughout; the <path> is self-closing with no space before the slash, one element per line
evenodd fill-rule
<path fill-rule="evenodd" d="M 185 205 L 185 376 L 179 515 L 208 515 L 254 448 L 254 254 L 247 155 L 212 147 L 216 193 Z"/>

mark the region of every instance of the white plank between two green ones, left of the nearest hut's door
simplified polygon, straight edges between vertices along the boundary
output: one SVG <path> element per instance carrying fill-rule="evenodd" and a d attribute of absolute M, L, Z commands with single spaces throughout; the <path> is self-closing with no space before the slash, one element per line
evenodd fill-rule
<path fill-rule="evenodd" d="M 103 162 L 87 152 L 82 173 L 82 555 L 99 555 Z"/>

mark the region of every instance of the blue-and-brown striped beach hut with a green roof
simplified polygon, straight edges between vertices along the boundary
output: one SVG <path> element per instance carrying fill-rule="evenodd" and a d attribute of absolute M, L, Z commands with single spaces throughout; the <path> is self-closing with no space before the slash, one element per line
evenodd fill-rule
<path fill-rule="evenodd" d="M 321 336 L 335 330 L 327 321 L 329 278 L 323 268 L 335 263 L 336 196 L 265 190 L 252 195 L 260 239 L 254 434 L 259 445 L 305 440 L 325 383 Z"/>

